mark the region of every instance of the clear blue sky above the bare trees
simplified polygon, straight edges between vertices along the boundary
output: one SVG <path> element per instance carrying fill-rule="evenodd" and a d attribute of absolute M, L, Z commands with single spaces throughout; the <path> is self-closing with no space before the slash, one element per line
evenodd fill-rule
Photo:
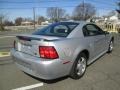
<path fill-rule="evenodd" d="M 91 3 L 95 6 L 97 16 L 108 14 L 108 12 L 117 9 L 118 0 L 84 0 L 85 3 Z M 33 7 L 35 15 L 45 16 L 48 7 L 60 7 L 66 10 L 66 13 L 72 15 L 75 6 L 82 3 L 83 0 L 0 0 L 0 13 L 6 14 L 7 18 L 14 21 L 17 17 L 33 18 Z"/>

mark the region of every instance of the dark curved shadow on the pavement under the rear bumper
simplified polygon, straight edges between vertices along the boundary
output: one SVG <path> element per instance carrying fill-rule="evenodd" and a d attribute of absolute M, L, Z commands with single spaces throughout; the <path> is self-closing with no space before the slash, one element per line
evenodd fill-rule
<path fill-rule="evenodd" d="M 25 72 L 24 72 L 24 73 L 25 73 Z M 38 81 L 41 81 L 41 82 L 44 82 L 44 83 L 47 83 L 47 84 L 57 83 L 57 82 L 59 82 L 59 81 L 62 81 L 62 80 L 65 80 L 65 79 L 69 78 L 69 76 L 64 76 L 64 77 L 57 78 L 57 79 L 53 79 L 53 80 L 44 80 L 44 79 L 40 79 L 40 78 L 37 78 L 37 77 L 35 77 L 35 76 L 32 76 L 32 75 L 30 75 L 30 74 L 28 74 L 28 73 L 25 73 L 25 74 L 27 74 L 28 76 L 32 77 L 33 79 L 36 79 L 36 80 L 38 80 Z"/>

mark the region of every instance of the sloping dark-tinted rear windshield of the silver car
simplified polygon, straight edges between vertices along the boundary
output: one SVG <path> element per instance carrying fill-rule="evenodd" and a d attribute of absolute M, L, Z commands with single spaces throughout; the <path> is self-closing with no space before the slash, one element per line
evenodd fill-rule
<path fill-rule="evenodd" d="M 46 35 L 46 36 L 58 36 L 58 37 L 67 37 L 70 32 L 78 25 L 79 23 L 74 22 L 59 22 L 54 23 L 49 26 L 46 26 L 42 29 L 38 29 L 33 35 Z"/>

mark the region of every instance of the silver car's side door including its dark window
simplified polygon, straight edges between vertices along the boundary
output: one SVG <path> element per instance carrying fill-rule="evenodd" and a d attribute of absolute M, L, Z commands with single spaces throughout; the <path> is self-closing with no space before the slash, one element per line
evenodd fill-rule
<path fill-rule="evenodd" d="M 105 33 L 95 24 L 85 25 L 86 37 L 91 41 L 93 57 L 98 56 L 106 50 Z"/>

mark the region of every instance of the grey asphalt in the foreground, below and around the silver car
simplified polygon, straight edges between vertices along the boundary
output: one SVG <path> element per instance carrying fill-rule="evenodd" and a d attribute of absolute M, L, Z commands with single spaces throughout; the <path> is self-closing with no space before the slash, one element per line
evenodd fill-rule
<path fill-rule="evenodd" d="M 0 58 L 0 90 L 12 90 L 38 83 L 43 83 L 43 86 L 30 90 L 120 90 L 120 36 L 115 37 L 112 54 L 105 54 L 91 64 L 79 80 L 69 77 L 54 81 L 40 80 L 20 71 L 11 57 Z"/>

